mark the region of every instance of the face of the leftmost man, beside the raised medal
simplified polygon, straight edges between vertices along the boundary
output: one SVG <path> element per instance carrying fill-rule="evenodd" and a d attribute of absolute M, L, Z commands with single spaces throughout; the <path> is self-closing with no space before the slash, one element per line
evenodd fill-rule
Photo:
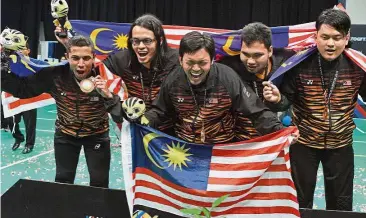
<path fill-rule="evenodd" d="M 94 64 L 94 53 L 89 46 L 72 46 L 66 54 L 70 69 L 78 80 L 88 78 Z"/>

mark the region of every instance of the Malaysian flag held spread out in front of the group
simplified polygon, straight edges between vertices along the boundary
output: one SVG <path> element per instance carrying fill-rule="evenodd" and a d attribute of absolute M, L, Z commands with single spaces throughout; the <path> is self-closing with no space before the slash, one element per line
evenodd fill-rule
<path fill-rule="evenodd" d="M 122 166 L 131 214 L 299 217 L 288 153 L 295 130 L 198 145 L 124 122 Z"/>

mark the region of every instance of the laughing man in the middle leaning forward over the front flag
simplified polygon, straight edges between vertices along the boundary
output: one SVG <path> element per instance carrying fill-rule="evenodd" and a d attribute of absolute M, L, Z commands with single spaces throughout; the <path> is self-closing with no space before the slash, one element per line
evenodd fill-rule
<path fill-rule="evenodd" d="M 162 84 L 145 116 L 152 127 L 172 118 L 176 135 L 193 143 L 225 143 L 234 139 L 237 112 L 248 116 L 263 134 L 282 129 L 276 115 L 229 67 L 213 63 L 210 36 L 186 34 L 179 48 L 180 67 Z"/>

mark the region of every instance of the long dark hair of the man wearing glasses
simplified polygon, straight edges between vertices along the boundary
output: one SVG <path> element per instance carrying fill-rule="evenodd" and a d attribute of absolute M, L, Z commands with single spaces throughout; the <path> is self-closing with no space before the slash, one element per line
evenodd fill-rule
<path fill-rule="evenodd" d="M 130 32 L 128 33 L 129 39 L 132 39 L 132 30 L 135 26 L 143 27 L 145 29 L 151 30 L 154 33 L 157 43 L 156 54 L 151 61 L 151 69 L 155 71 L 163 70 L 167 61 L 165 54 L 168 51 L 168 43 L 166 41 L 162 22 L 154 15 L 142 15 L 132 23 Z M 132 48 L 132 42 L 130 40 L 128 40 L 127 47 L 131 55 L 132 70 L 139 70 L 141 68 L 141 64 L 137 60 L 136 54 Z"/>

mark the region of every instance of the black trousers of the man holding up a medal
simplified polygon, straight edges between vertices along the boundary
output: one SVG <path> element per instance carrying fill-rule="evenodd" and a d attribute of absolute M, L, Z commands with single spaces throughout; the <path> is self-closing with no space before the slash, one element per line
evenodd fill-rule
<path fill-rule="evenodd" d="M 56 182 L 73 184 L 79 162 L 81 146 L 90 175 L 90 185 L 108 188 L 111 162 L 109 132 L 76 138 L 56 130 L 55 139 Z"/>

